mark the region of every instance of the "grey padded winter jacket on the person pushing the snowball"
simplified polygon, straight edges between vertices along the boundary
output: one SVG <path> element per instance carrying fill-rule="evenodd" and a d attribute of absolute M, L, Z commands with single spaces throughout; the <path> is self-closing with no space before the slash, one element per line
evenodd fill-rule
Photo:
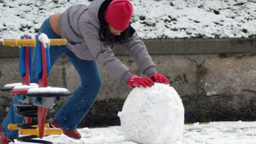
<path fill-rule="evenodd" d="M 67 40 L 67 48 L 78 58 L 97 60 L 110 74 L 127 83 L 132 75 L 129 68 L 115 57 L 113 45 L 105 47 L 104 42 L 100 40 L 98 12 L 103 2 L 104 0 L 95 0 L 89 6 L 71 6 L 59 18 L 58 26 L 62 38 Z M 136 32 L 125 42 L 124 47 L 143 74 L 149 76 L 157 72 L 152 58 Z"/>

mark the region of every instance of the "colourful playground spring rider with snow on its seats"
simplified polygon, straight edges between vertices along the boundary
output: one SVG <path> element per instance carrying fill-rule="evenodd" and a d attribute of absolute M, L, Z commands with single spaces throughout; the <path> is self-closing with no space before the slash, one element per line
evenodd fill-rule
<path fill-rule="evenodd" d="M 41 33 L 40 33 L 41 34 Z M 39 34 L 39 35 L 40 35 Z M 38 40 L 39 35 L 31 39 L 29 35 L 21 36 L 19 40 L 5 40 L 3 45 L 19 46 L 19 70 L 22 77 L 22 83 L 7 84 L 1 91 L 10 91 L 12 95 L 16 95 L 23 104 L 15 104 L 18 109 L 17 115 L 25 117 L 26 123 L 10 124 L 8 129 L 19 130 L 19 135 L 28 135 L 18 137 L 18 141 L 47 143 L 49 141 L 36 140 L 32 138 L 43 138 L 52 134 L 62 134 L 62 130 L 58 128 L 49 128 L 52 118 L 47 115 L 48 109 L 53 109 L 54 98 L 62 96 L 70 96 L 69 90 L 65 88 L 52 88 L 48 86 L 47 77 L 49 77 L 50 57 L 49 45 L 46 47 Z M 51 45 L 65 45 L 65 39 L 49 39 Z M 30 83 L 32 46 L 35 51 L 35 71 L 38 84 Z M 35 118 L 37 122 L 32 122 Z"/>

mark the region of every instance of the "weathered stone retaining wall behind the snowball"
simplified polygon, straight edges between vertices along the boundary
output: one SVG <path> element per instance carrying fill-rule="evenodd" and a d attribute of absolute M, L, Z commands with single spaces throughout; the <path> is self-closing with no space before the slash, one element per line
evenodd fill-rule
<path fill-rule="evenodd" d="M 143 40 L 159 73 L 171 81 L 185 107 L 186 122 L 256 120 L 256 41 L 251 39 Z M 141 75 L 121 46 L 116 56 Z M 0 45 L 0 87 L 20 82 L 18 48 Z M 131 88 L 100 67 L 103 86 L 79 126 L 119 125 L 117 116 Z M 51 70 L 49 85 L 74 91 L 80 79 L 66 56 Z M 9 93 L 0 93 L 0 121 L 11 102 Z M 58 110 L 66 98 L 56 101 Z"/>

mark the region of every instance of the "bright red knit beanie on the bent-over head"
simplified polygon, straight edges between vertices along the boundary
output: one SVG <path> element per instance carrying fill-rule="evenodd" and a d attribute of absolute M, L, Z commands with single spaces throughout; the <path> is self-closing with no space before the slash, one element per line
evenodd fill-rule
<path fill-rule="evenodd" d="M 133 8 L 128 0 L 113 0 L 105 12 L 106 22 L 118 30 L 127 29 Z"/>

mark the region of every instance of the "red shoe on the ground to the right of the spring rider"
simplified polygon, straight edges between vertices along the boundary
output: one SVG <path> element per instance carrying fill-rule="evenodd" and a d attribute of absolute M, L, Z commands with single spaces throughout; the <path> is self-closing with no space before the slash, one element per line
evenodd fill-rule
<path fill-rule="evenodd" d="M 63 129 L 60 125 L 58 125 L 58 123 L 55 120 L 53 120 L 50 123 L 50 125 L 52 127 L 56 127 L 56 128 L 62 129 L 63 130 L 63 134 L 65 134 L 66 136 L 68 136 L 70 138 L 77 139 L 77 140 L 81 138 L 81 134 L 79 134 L 79 132 L 76 129 L 74 129 L 74 130 Z"/>

